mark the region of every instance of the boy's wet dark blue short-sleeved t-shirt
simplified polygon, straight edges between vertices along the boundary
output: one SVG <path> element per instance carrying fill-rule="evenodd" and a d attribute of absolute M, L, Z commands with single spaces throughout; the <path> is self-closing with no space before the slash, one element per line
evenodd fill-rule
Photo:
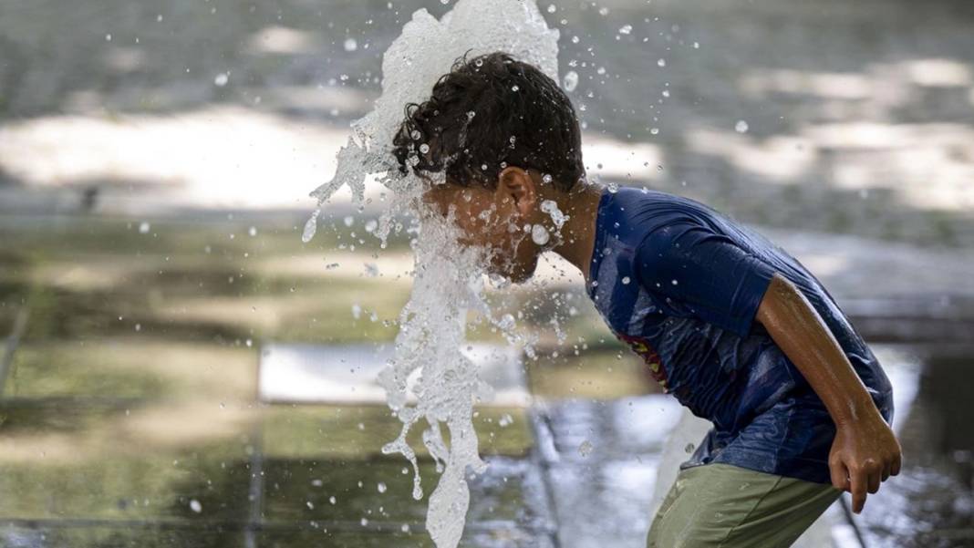
<path fill-rule="evenodd" d="M 714 424 L 684 468 L 725 462 L 830 483 L 835 423 L 755 321 L 774 274 L 805 294 L 892 420 L 892 387 L 879 361 L 818 280 L 701 203 L 632 188 L 604 192 L 590 273 L 588 295 L 618 339 L 667 392 Z"/>

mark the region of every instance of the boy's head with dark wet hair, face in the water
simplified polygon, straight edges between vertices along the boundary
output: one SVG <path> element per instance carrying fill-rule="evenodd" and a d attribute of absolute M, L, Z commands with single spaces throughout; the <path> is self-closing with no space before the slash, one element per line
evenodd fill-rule
<path fill-rule="evenodd" d="M 564 204 L 585 177 L 568 96 L 504 53 L 458 59 L 429 100 L 406 105 L 393 145 L 401 172 L 445 175 L 426 201 L 452 209 L 464 242 L 491 251 L 490 270 L 515 281 L 534 273 L 544 248 L 525 226 L 549 229 L 541 203 Z"/>

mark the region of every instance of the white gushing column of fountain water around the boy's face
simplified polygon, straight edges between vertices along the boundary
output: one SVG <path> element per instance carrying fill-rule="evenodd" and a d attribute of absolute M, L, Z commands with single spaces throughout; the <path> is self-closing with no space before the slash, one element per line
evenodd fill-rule
<path fill-rule="evenodd" d="M 462 352 L 467 345 L 467 312 L 480 311 L 511 344 L 524 340 L 515 332 L 512 316 L 494 318 L 486 305 L 483 256 L 475 249 L 458 247 L 452 223 L 423 210 L 420 198 L 430 181 L 412 173 L 400 175 L 391 150 L 405 104 L 429 98 L 433 84 L 458 57 L 498 51 L 530 62 L 558 81 L 558 31 L 547 27 L 534 0 L 460 0 L 438 20 L 426 10 L 414 13 L 383 56 L 382 95 L 374 110 L 353 123 L 353 135 L 338 154 L 334 178 L 312 194 L 318 209 L 302 236 L 305 241 L 315 236 L 320 208 L 342 186 L 349 186 L 354 200 L 361 202 L 368 177 L 376 177 L 395 195 L 386 201 L 387 209 L 373 232 L 383 239 L 383 246 L 391 231 L 403 230 L 395 219 L 412 218 L 413 290 L 399 315 L 393 360 L 379 379 L 402 430 L 383 452 L 400 453 L 410 460 L 413 496 L 421 498 L 416 454 L 406 436 L 414 424 L 427 422 L 423 444 L 441 472 L 427 514 L 427 529 L 438 548 L 455 548 L 460 542 L 469 505 L 468 470 L 480 473 L 486 466 L 478 455 L 472 416 L 474 403 L 490 398 L 490 389 Z M 560 215 L 556 210 L 547 211 L 555 222 Z M 548 234 L 538 232 L 532 237 L 546 241 Z M 533 354 L 530 345 L 526 351 Z M 419 381 L 407 384 L 417 371 Z M 415 396 L 415 404 L 407 403 L 410 395 Z"/>

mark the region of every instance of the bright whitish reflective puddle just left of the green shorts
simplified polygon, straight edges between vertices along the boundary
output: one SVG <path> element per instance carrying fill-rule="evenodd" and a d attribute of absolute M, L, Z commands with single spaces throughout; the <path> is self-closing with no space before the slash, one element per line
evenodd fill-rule
<path fill-rule="evenodd" d="M 661 394 L 568 400 L 544 413 L 550 439 L 539 445 L 562 546 L 645 545 L 660 453 L 680 415 Z"/>

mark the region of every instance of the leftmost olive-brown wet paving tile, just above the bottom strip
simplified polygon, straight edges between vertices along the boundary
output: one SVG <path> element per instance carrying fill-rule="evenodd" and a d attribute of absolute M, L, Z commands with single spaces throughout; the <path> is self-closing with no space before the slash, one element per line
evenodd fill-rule
<path fill-rule="evenodd" d="M 143 413 L 116 404 L 4 404 L 0 520 L 244 519 L 254 451 L 246 430 L 214 431 L 206 424 L 213 419 L 199 415 L 203 439 L 189 443 L 161 437 L 137 417 Z"/>

